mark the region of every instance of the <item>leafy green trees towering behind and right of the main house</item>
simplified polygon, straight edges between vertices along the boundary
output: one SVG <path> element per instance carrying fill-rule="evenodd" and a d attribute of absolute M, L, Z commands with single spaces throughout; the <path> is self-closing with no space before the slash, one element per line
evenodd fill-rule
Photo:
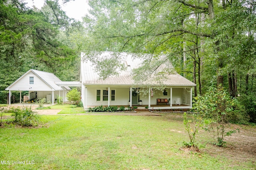
<path fill-rule="evenodd" d="M 244 57 L 242 51 L 255 54 L 244 45 L 255 39 L 253 0 L 90 0 L 89 4 L 92 10 L 84 21 L 96 45 L 88 49 L 167 54 L 178 72 L 188 73 L 191 80 L 193 73 L 201 95 L 214 82 L 229 87 L 235 96 L 241 64 L 234 61 Z"/>

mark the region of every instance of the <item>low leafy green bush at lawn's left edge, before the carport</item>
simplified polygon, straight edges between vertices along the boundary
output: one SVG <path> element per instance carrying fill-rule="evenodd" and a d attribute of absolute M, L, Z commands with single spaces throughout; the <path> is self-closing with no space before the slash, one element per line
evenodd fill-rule
<path fill-rule="evenodd" d="M 14 123 L 21 126 L 37 126 L 40 116 L 32 111 L 31 106 L 11 107 L 10 111 L 14 116 Z"/>

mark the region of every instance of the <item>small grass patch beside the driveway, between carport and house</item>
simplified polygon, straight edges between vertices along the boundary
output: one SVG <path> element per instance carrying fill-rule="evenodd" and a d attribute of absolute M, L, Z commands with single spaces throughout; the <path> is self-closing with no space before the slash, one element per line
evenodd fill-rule
<path fill-rule="evenodd" d="M 77 107 L 72 104 L 64 104 L 64 105 L 53 105 L 52 109 L 62 109 L 58 114 L 76 114 L 76 113 L 85 113 L 84 107 Z"/>

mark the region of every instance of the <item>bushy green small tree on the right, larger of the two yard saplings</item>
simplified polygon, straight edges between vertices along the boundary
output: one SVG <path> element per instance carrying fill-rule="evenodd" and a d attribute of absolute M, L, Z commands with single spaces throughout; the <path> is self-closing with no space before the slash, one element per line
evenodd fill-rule
<path fill-rule="evenodd" d="M 240 121 L 239 117 L 242 117 L 242 121 L 246 120 L 243 114 L 244 108 L 241 107 L 238 100 L 232 99 L 229 93 L 221 86 L 219 88 L 211 87 L 208 93 L 195 99 L 194 111 L 209 119 L 211 124 L 214 124 L 212 129 L 217 133 L 219 146 L 224 144 L 224 136 L 236 132 L 229 131 L 225 134 L 226 123 L 229 121 Z"/>

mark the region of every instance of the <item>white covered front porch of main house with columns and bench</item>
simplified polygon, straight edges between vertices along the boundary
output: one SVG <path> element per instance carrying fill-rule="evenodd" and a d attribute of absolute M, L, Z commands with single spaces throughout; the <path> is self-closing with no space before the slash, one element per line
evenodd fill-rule
<path fill-rule="evenodd" d="M 84 90 L 83 90 L 84 89 Z M 133 88 L 127 86 L 90 86 L 82 88 L 84 109 L 95 106 L 124 106 L 148 109 L 192 108 L 192 87 L 172 86 Z"/>

